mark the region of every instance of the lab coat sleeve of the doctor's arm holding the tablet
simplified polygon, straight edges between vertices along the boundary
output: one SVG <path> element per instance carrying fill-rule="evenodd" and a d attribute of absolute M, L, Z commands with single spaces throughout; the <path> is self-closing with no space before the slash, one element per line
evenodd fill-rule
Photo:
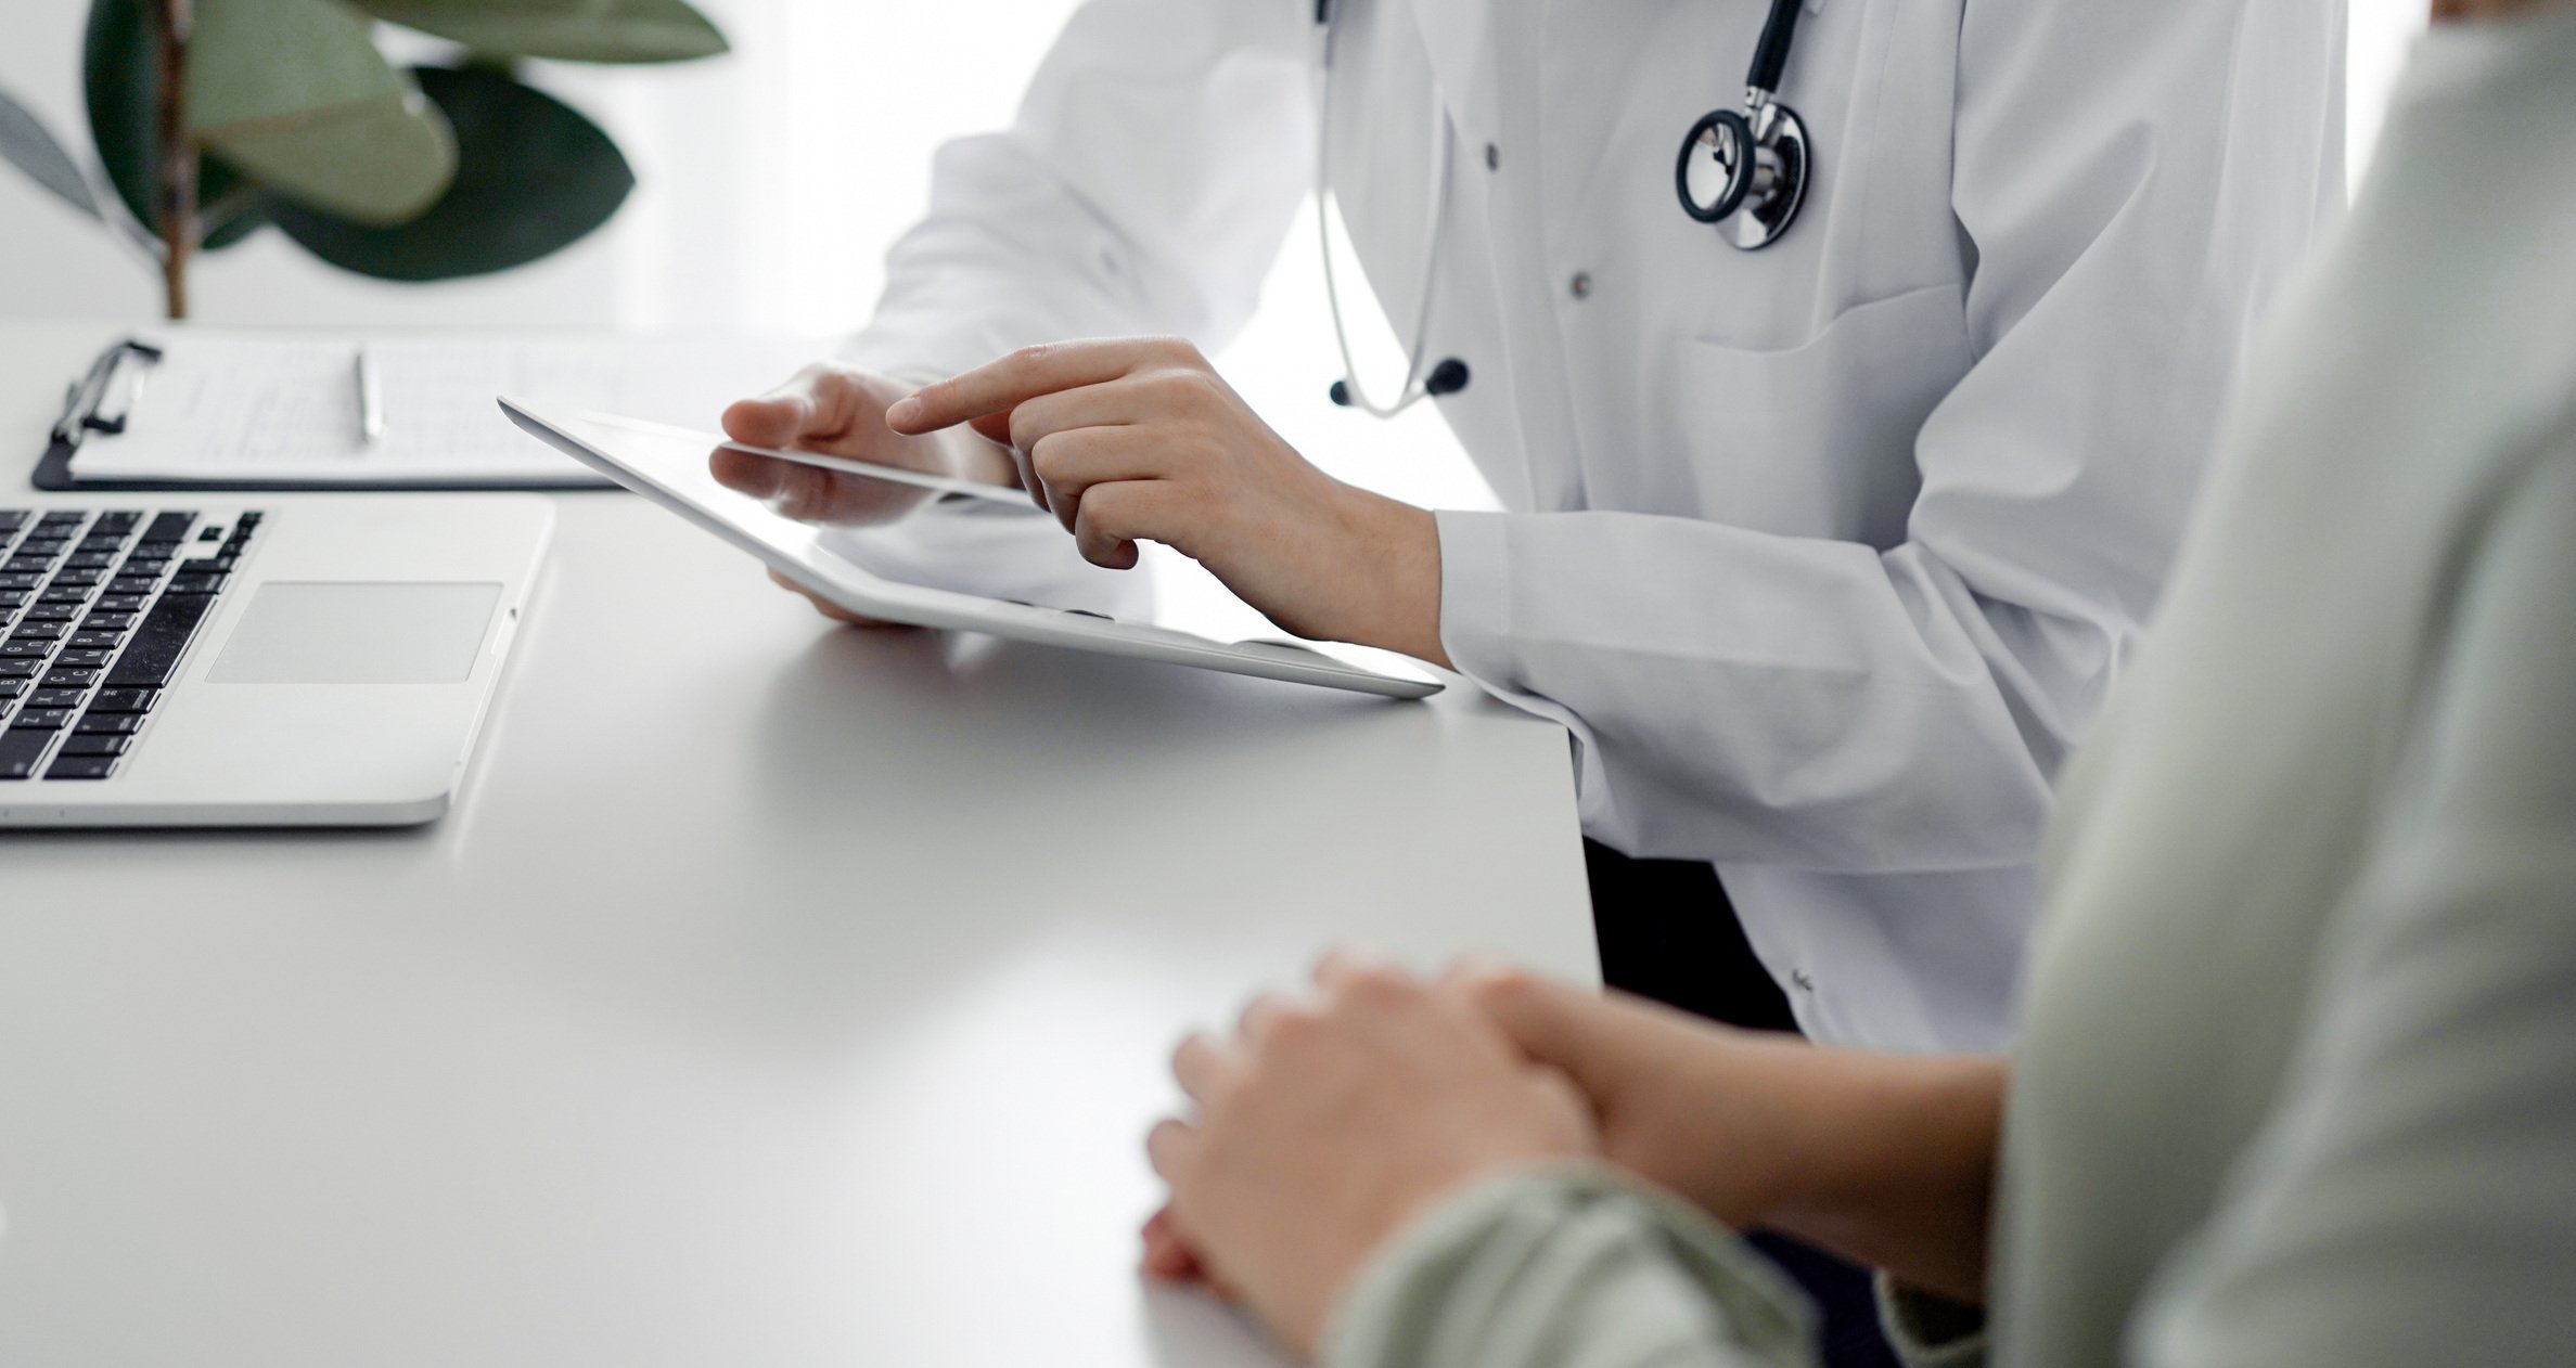
<path fill-rule="evenodd" d="M 1213 353 L 1252 314 L 1314 167 L 1311 15 L 1301 0 L 1074 10 L 1012 126 L 938 152 L 930 214 L 894 245 L 842 358 L 927 384 L 1066 337 L 1182 335 Z M 1005 598 L 1113 605 L 1144 587 L 1084 564 L 1046 518 L 940 513 L 832 541 L 878 572 Z"/>

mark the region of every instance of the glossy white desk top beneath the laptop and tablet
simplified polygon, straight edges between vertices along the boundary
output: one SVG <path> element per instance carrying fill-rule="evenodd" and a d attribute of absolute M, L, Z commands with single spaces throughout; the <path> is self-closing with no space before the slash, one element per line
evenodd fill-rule
<path fill-rule="evenodd" d="M 10 461 L 98 340 L 0 325 Z M 0 1363 L 1260 1363 L 1131 1273 L 1177 1028 L 1329 940 L 1592 974 L 1553 727 L 559 508 L 446 822 L 0 835 Z"/>

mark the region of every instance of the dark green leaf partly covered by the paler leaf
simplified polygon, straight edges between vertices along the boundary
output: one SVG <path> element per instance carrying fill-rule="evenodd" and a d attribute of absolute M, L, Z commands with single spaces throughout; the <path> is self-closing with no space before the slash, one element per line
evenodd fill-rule
<path fill-rule="evenodd" d="M 402 227 L 270 206 L 312 255 L 384 281 L 484 276 L 582 240 L 636 183 L 608 134 L 551 95 L 482 67 L 412 75 L 456 129 L 456 183 Z"/>

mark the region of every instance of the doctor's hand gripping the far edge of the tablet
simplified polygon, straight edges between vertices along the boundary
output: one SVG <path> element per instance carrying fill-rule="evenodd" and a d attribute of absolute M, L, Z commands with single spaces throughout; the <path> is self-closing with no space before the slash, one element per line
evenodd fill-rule
<path fill-rule="evenodd" d="M 951 479 L 1018 482 L 1010 453 L 971 430 L 902 435 L 886 428 L 886 404 L 909 392 L 912 386 L 904 381 L 822 361 L 796 371 L 786 384 L 757 399 L 726 407 L 724 435 L 750 446 L 822 451 Z M 716 448 L 708 456 L 708 471 L 729 489 L 770 505 L 783 518 L 840 528 L 891 523 L 935 497 L 930 489 L 912 484 L 799 466 L 732 448 Z M 770 580 L 806 593 L 775 572 L 770 572 Z M 827 618 L 881 626 L 829 600 L 809 593 L 806 598 Z"/>

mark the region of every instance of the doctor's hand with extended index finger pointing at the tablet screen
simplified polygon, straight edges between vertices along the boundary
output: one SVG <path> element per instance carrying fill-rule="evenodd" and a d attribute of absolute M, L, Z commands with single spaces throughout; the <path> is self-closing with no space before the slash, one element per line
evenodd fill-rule
<path fill-rule="evenodd" d="M 886 410 L 896 433 L 958 423 L 1007 435 L 1092 564 L 1162 541 L 1298 636 L 1448 665 L 1432 515 L 1314 469 L 1185 340 L 1023 348 Z"/>

